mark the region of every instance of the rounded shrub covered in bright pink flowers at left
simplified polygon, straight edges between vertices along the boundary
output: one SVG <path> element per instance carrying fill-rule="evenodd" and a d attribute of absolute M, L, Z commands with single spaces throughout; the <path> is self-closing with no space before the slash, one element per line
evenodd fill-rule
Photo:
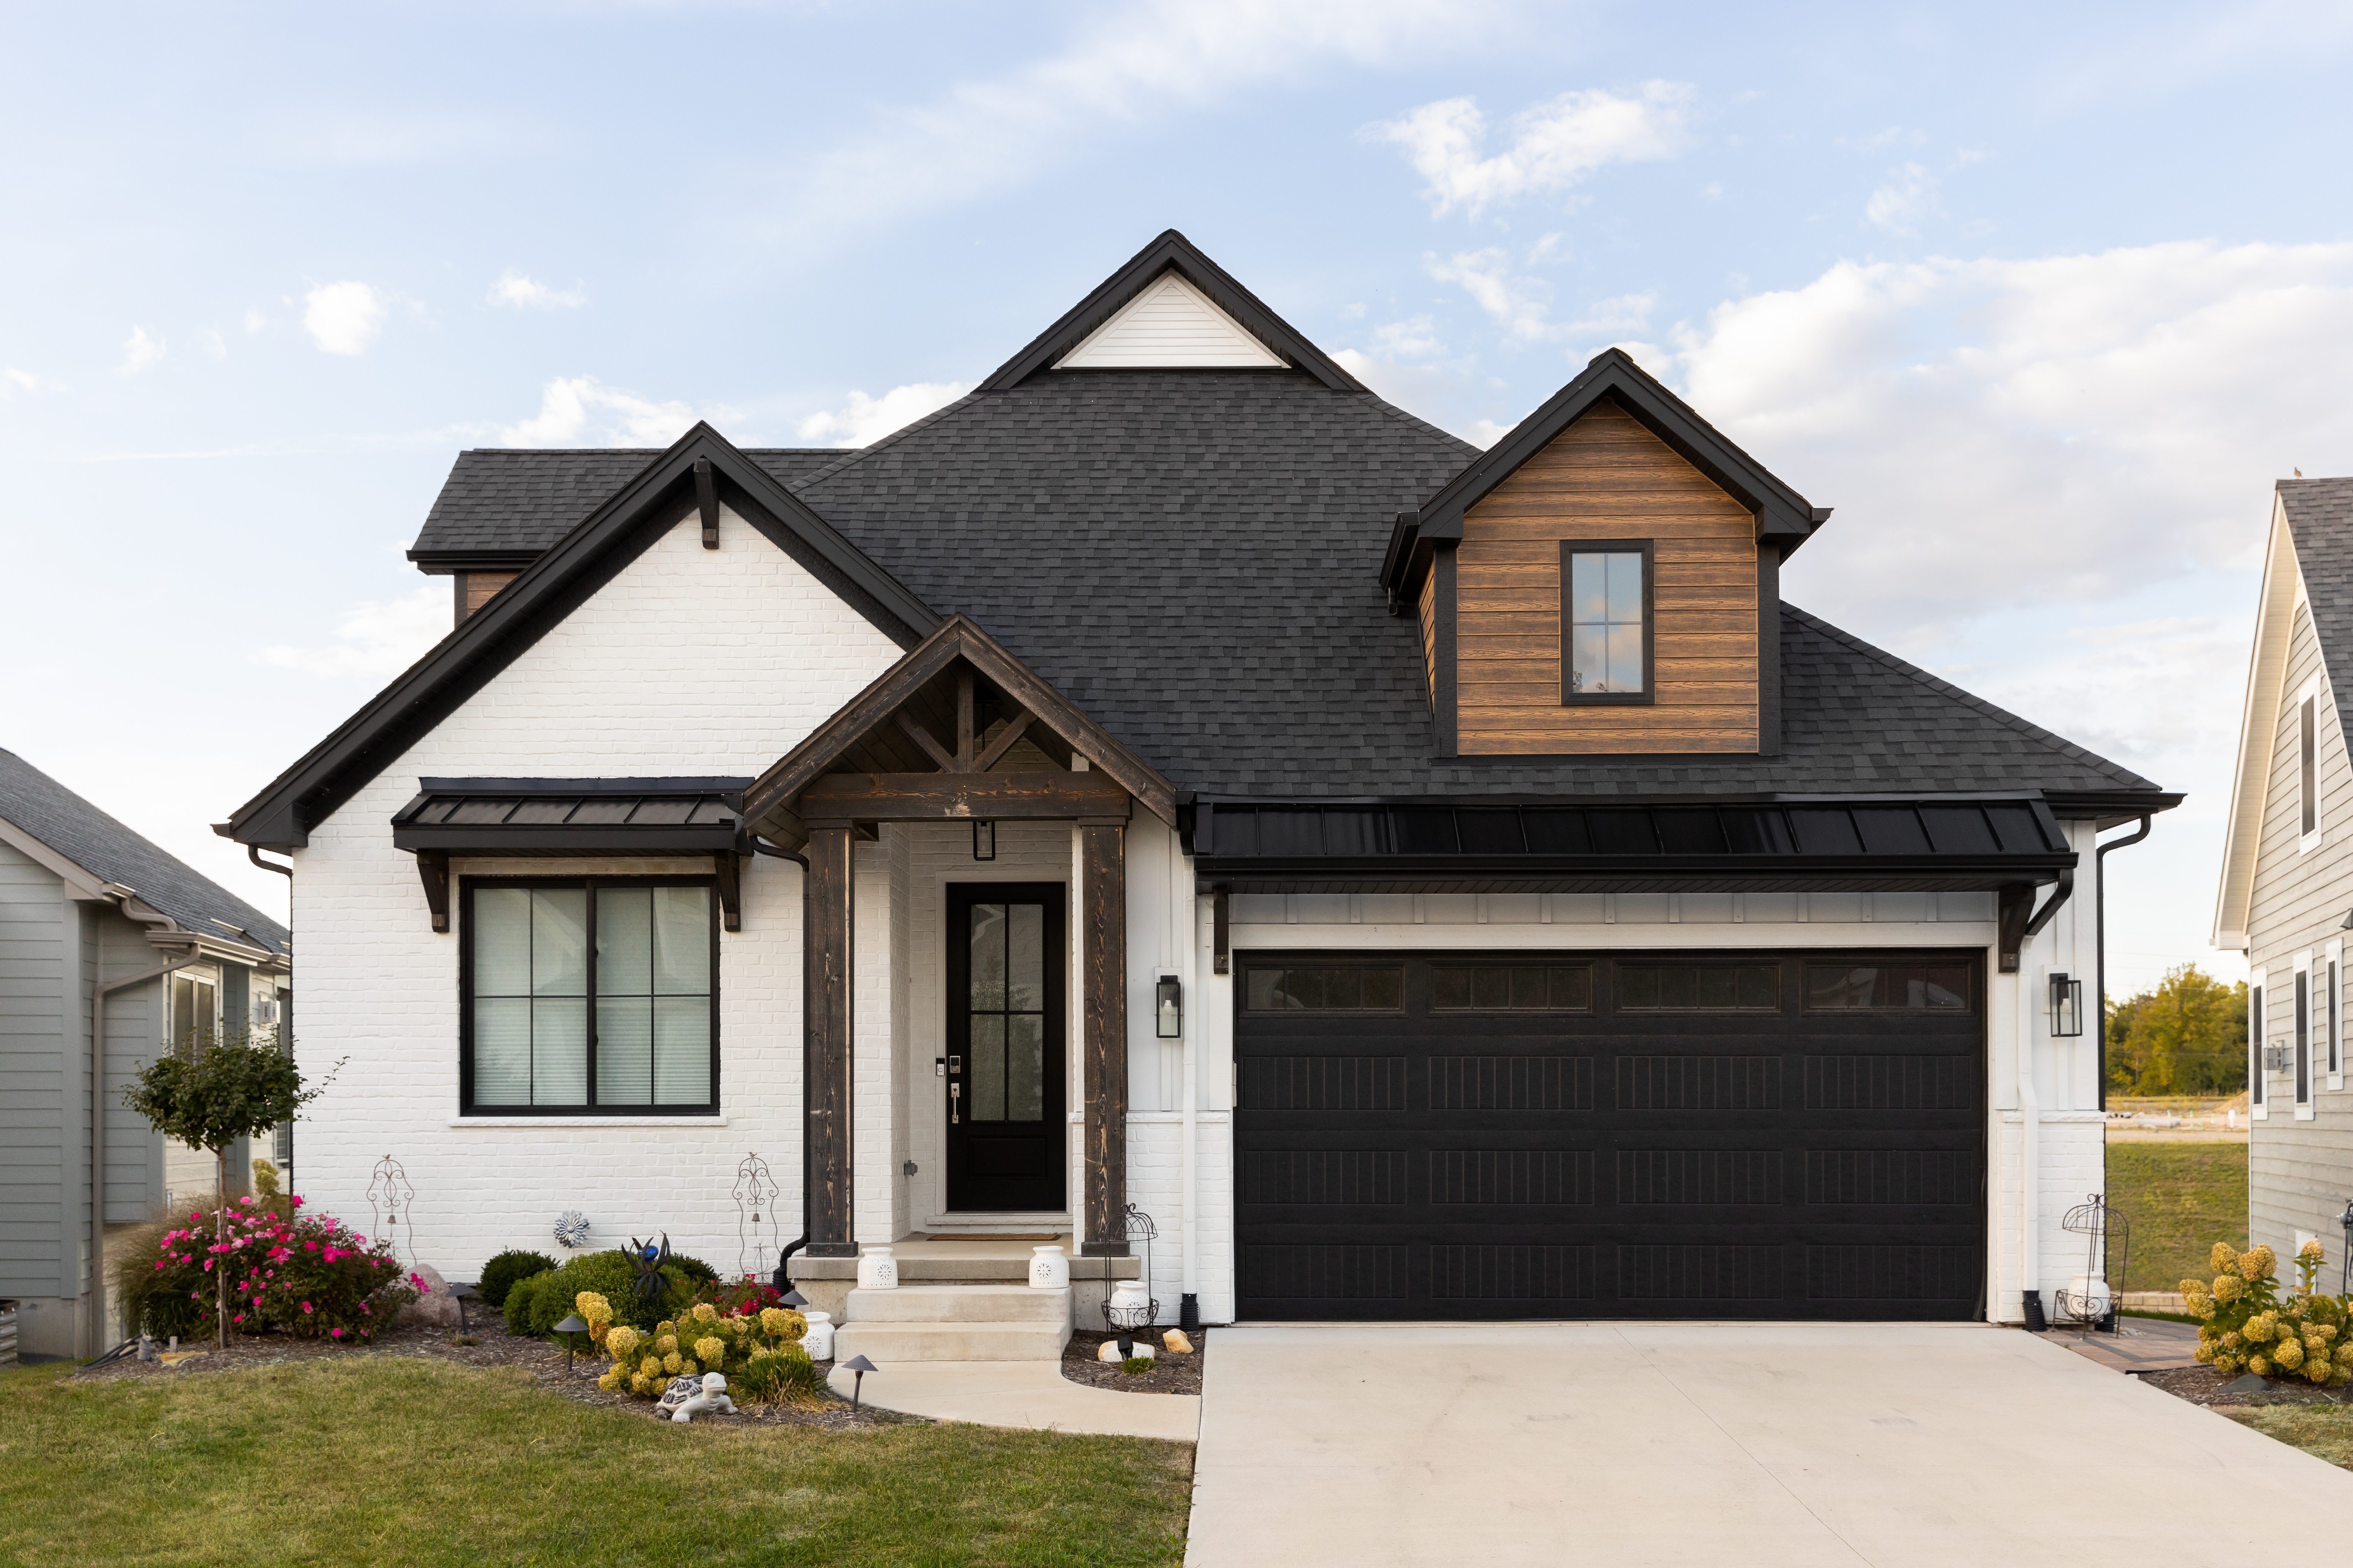
<path fill-rule="evenodd" d="M 191 1213 L 165 1229 L 146 1255 L 141 1288 L 125 1291 L 125 1309 L 153 1335 L 205 1333 L 216 1269 L 228 1274 L 228 1326 L 242 1333 L 280 1328 L 362 1342 L 421 1295 L 388 1241 L 369 1241 L 332 1215 L 304 1213 L 299 1197 L 238 1199 L 221 1232 L 209 1213 Z M 134 1272 L 125 1269 L 125 1286 Z"/>

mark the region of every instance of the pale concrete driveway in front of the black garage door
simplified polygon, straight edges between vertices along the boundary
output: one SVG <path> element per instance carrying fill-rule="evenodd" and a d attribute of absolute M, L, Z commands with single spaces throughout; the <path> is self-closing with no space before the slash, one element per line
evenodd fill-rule
<path fill-rule="evenodd" d="M 1186 1563 L 2344 1561 L 2353 1472 L 2026 1333 L 1219 1328 Z"/>

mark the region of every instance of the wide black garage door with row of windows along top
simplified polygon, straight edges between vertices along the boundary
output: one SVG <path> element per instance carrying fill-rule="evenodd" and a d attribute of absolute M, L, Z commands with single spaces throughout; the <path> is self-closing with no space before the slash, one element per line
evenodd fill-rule
<path fill-rule="evenodd" d="M 1235 954 L 1247 1319 L 1965 1319 L 1969 952 Z"/>

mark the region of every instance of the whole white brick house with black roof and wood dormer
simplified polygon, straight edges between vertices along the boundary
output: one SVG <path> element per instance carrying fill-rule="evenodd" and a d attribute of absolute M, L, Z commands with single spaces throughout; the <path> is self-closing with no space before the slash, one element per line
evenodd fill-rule
<path fill-rule="evenodd" d="M 1468 447 L 1174 233 L 861 451 L 466 451 L 456 628 L 224 825 L 306 1192 L 393 1157 L 452 1276 L 767 1269 L 758 1154 L 835 1305 L 1136 1206 L 1162 1319 L 2017 1321 L 2179 797 L 1784 604 L 1826 517 L 1617 350 Z"/>

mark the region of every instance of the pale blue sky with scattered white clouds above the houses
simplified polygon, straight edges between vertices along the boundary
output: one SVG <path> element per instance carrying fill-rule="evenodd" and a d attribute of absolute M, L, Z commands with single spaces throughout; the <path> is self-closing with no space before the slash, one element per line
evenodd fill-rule
<path fill-rule="evenodd" d="M 2191 804 L 2271 480 L 2353 473 L 2344 7 L 9 9 L 0 745 L 219 820 L 447 625 L 461 447 L 873 440 L 1176 226 L 1492 440 L 1624 343 L 1821 505 L 1786 595 Z M 42 588 L 49 585 L 49 588 Z"/>

